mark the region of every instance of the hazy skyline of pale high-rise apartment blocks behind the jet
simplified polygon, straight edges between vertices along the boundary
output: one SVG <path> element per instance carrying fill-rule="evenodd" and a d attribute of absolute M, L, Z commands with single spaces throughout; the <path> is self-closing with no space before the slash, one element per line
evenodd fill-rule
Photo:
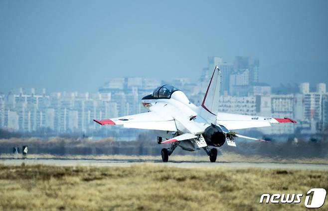
<path fill-rule="evenodd" d="M 253 57 L 235 57 L 227 63 L 221 57 L 209 57 L 207 67 L 197 81 L 172 78 L 166 81 L 181 89 L 190 102 L 200 105 L 211 77 L 212 68 L 221 65 L 219 111 L 256 116 L 288 117 L 298 124 L 260 128 L 266 134 L 316 133 L 328 126 L 328 92 L 326 83 L 299 84 L 295 89 L 276 90 L 258 79 L 260 61 Z M 125 77 L 111 78 L 98 92 L 49 92 L 34 88 L 0 94 L 0 128 L 20 132 L 48 134 L 91 134 L 97 128 L 93 119 L 126 116 L 145 112 L 140 99 L 162 86 L 163 81 Z M 285 93 L 284 93 L 285 92 Z M 120 131 L 117 128 L 110 131 Z M 44 132 L 42 132 L 44 133 Z"/>

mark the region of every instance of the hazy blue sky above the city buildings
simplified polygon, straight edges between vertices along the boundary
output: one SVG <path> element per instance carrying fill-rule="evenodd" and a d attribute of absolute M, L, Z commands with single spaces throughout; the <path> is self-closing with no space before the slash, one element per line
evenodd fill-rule
<path fill-rule="evenodd" d="M 0 91 L 96 92 L 106 78 L 196 79 L 208 56 L 260 81 L 328 83 L 328 0 L 0 0 Z"/>

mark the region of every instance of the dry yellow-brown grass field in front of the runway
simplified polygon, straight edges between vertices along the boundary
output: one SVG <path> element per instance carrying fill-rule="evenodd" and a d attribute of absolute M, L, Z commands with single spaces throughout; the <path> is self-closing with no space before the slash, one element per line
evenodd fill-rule
<path fill-rule="evenodd" d="M 0 165 L 0 210 L 304 210 L 259 204 L 264 193 L 328 190 L 319 171 Z M 327 201 L 327 200 L 326 200 Z M 328 203 L 321 210 L 327 210 Z"/>

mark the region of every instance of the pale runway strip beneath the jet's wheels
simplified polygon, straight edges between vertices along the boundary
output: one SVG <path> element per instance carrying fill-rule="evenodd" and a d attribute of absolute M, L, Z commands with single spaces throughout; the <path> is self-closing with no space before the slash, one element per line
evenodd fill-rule
<path fill-rule="evenodd" d="M 129 167 L 138 164 L 156 164 L 177 168 L 264 168 L 264 169 L 293 169 L 328 171 L 326 164 L 282 164 L 282 163 L 248 163 L 248 162 L 216 162 L 206 161 L 171 161 L 163 163 L 161 160 L 96 160 L 96 159 L 2 159 L 2 165 L 51 165 L 51 166 L 106 166 Z"/>

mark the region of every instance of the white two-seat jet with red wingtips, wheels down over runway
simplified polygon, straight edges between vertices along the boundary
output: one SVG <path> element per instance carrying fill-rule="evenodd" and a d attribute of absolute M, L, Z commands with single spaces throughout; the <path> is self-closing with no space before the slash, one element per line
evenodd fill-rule
<path fill-rule="evenodd" d="M 267 127 L 273 123 L 296 123 L 290 118 L 273 118 L 221 113 L 219 110 L 221 72 L 217 66 L 209 81 L 205 96 L 200 106 L 192 104 L 179 89 L 163 85 L 153 94 L 142 98 L 142 104 L 148 112 L 94 120 L 101 125 L 123 125 L 126 128 L 157 130 L 159 144 L 170 143 L 162 149 L 163 162 L 179 146 L 183 150 L 194 151 L 203 148 L 211 162 L 216 161 L 217 150 L 225 142 L 236 146 L 235 137 L 265 141 L 239 135 L 231 130 Z"/>

